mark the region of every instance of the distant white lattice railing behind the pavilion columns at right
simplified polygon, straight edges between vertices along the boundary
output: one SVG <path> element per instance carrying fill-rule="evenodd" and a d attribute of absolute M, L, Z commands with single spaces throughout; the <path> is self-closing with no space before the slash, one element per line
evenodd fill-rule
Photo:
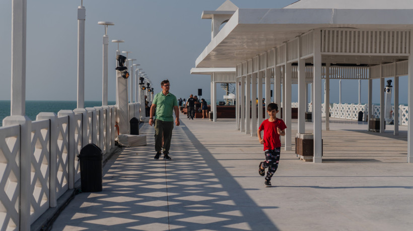
<path fill-rule="evenodd" d="M 291 107 L 298 108 L 297 102 L 292 102 Z M 407 106 L 399 105 L 399 119 L 398 124 L 407 126 L 408 123 L 408 110 Z M 312 111 L 312 105 L 307 105 L 307 111 Z M 368 104 L 332 104 L 330 106 L 330 118 L 358 120 L 359 112 L 363 112 L 363 121 L 367 121 L 367 114 L 369 112 Z M 391 119 L 394 120 L 394 106 L 391 106 Z M 325 113 L 325 104 L 321 104 L 321 113 Z M 373 105 L 373 118 L 380 118 L 380 105 Z"/>

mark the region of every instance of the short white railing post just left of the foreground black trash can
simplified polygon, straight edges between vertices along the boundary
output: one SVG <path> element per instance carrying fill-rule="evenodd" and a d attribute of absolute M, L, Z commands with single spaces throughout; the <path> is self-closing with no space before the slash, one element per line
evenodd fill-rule
<path fill-rule="evenodd" d="M 75 112 L 72 110 L 60 110 L 57 113 L 58 117 L 68 116 L 69 119 L 69 134 L 68 134 L 68 150 L 69 155 L 69 164 L 68 164 L 68 173 L 69 173 L 69 189 L 75 187 Z"/>

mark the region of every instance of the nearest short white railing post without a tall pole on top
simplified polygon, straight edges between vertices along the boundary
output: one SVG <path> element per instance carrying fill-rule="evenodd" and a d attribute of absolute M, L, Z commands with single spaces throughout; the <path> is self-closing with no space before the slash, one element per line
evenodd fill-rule
<path fill-rule="evenodd" d="M 40 112 L 36 116 L 36 120 L 49 120 L 50 121 L 50 207 L 56 207 L 57 197 L 56 197 L 56 181 L 57 181 L 57 137 L 58 137 L 58 127 L 57 127 L 57 115 L 53 112 Z"/>

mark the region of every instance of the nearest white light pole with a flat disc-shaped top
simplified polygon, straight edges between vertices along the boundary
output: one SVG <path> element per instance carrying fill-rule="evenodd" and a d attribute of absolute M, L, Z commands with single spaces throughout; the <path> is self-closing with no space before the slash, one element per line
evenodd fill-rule
<path fill-rule="evenodd" d="M 103 35 L 103 55 L 102 55 L 102 106 L 108 105 L 108 26 L 115 25 L 112 22 L 98 22 L 99 25 L 105 26 Z"/>

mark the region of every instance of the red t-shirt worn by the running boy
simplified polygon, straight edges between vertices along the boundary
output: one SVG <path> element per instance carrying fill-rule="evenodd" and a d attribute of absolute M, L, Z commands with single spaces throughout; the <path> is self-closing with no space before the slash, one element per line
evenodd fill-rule
<path fill-rule="evenodd" d="M 259 126 L 259 131 L 264 130 L 264 150 L 266 149 L 276 149 L 276 147 L 281 147 L 280 135 L 277 132 L 277 127 L 281 130 L 287 128 L 284 120 L 277 118 L 275 121 L 270 122 L 268 119 L 262 121 Z"/>

